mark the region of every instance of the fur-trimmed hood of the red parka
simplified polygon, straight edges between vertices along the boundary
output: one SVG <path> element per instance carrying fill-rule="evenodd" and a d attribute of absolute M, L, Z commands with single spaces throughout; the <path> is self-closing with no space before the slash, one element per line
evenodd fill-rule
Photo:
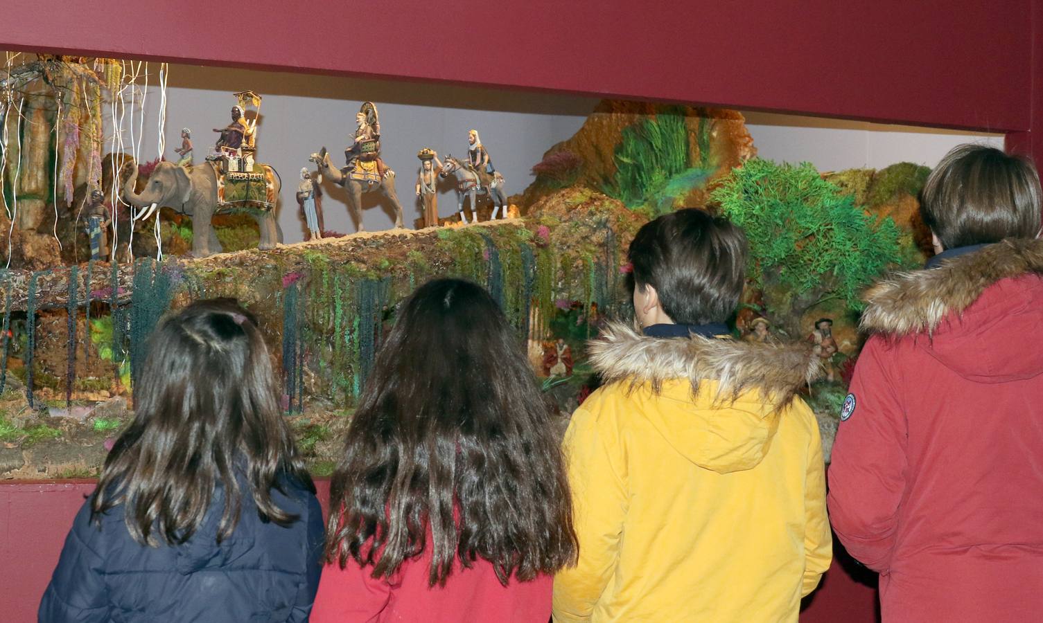
<path fill-rule="evenodd" d="M 917 348 L 968 379 L 1028 378 L 1043 372 L 1043 352 L 1025 349 L 1017 357 L 1001 356 L 1001 349 L 989 344 L 1039 334 L 1040 276 L 1043 240 L 1005 240 L 938 268 L 880 281 L 866 293 L 862 328 L 890 339 L 923 335 L 915 340 Z"/>

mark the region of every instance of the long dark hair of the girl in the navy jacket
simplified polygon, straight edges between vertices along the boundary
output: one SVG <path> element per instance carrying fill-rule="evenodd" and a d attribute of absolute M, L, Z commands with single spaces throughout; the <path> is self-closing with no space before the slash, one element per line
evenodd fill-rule
<path fill-rule="evenodd" d="M 168 317 L 149 340 L 135 385 L 135 419 L 105 459 L 92 521 L 100 525 L 101 515 L 123 504 L 135 541 L 185 543 L 218 482 L 224 499 L 218 542 L 235 530 L 243 495 L 266 521 L 296 521 L 271 490 L 283 491 L 286 477 L 313 493 L 315 487 L 280 412 L 276 387 L 257 319 L 234 299 L 197 301 Z M 240 491 L 240 478 L 249 491 Z"/>

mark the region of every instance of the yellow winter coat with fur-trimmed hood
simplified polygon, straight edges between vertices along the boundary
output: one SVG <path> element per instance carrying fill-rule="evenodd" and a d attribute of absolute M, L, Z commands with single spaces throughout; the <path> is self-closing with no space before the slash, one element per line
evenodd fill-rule
<path fill-rule="evenodd" d="M 607 384 L 565 433 L 580 554 L 554 620 L 797 621 L 832 556 L 822 444 L 800 399 L 774 406 L 814 357 L 622 325 L 591 353 Z"/>

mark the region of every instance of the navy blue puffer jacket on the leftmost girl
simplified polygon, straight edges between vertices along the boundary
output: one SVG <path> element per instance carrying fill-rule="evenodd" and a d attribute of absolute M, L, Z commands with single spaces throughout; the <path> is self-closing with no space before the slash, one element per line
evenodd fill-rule
<path fill-rule="evenodd" d="M 240 487 L 249 491 L 246 482 Z M 261 521 L 249 495 L 239 524 L 217 544 L 224 508 L 215 489 L 192 539 L 179 546 L 143 546 L 130 538 L 123 506 L 91 525 L 88 500 L 76 515 L 40 604 L 42 623 L 235 623 L 308 621 L 318 588 L 322 510 L 315 495 L 286 481 L 272 491 L 281 508 L 300 516 L 287 527 Z"/>

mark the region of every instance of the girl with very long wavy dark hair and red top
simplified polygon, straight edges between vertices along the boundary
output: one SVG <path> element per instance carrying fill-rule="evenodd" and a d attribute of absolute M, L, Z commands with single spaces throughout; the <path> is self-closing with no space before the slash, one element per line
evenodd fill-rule
<path fill-rule="evenodd" d="M 345 435 L 312 620 L 547 623 L 577 554 L 559 441 L 489 294 L 421 286 Z"/>

